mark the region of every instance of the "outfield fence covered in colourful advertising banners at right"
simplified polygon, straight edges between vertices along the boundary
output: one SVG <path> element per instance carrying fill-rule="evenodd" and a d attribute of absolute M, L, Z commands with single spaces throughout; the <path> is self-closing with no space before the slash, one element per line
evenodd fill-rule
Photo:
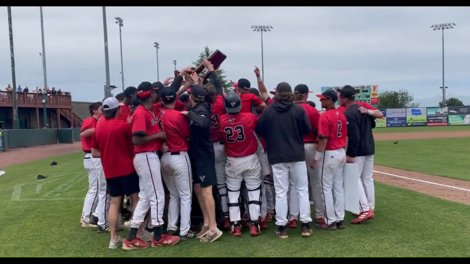
<path fill-rule="evenodd" d="M 376 127 L 470 125 L 470 106 L 379 109 Z"/>

